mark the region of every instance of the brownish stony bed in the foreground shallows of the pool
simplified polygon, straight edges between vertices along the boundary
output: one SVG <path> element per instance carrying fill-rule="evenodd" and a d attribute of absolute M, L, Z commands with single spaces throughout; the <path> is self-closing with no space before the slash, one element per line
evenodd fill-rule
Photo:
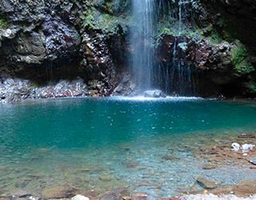
<path fill-rule="evenodd" d="M 165 138 L 159 138 L 159 142 L 162 142 L 161 140 L 166 141 Z M 163 172 L 156 169 L 155 167 L 159 164 L 149 166 L 149 164 L 136 161 L 138 158 L 141 158 L 141 154 L 147 157 L 152 152 L 141 149 L 139 150 L 140 156 L 137 158 L 136 156 L 134 157 L 136 147 L 123 144 L 117 148 L 124 158 L 121 160 L 115 158 L 116 160 L 113 161 L 121 162 L 120 165 L 123 167 L 122 178 L 118 177 L 117 171 L 111 169 L 110 163 L 106 166 L 92 166 L 92 163 L 86 164 L 86 162 L 77 163 L 77 165 L 69 164 L 69 166 L 63 164 L 63 166 L 59 166 L 59 169 L 53 169 L 54 172 L 50 172 L 50 174 L 47 171 L 40 170 L 40 166 L 38 166 L 38 170 L 33 170 L 29 166 L 22 166 L 23 164 L 19 163 L 16 169 L 7 169 L 5 166 L 1 166 L 1 169 L 6 171 L 7 174 L 2 175 L 1 178 L 2 186 L 6 187 L 0 190 L 0 198 L 3 200 L 64 200 L 70 199 L 77 194 L 82 194 L 93 200 L 255 199 L 255 196 L 251 195 L 254 195 L 256 191 L 254 172 L 256 167 L 255 163 L 250 162 L 250 160 L 255 159 L 256 149 L 242 154 L 242 150 L 234 152 L 231 147 L 232 142 L 256 144 L 255 134 L 226 134 L 225 136 L 220 134 L 212 138 L 210 134 L 198 133 L 198 138 L 186 137 L 183 140 L 172 146 L 169 146 L 168 142 L 163 144 L 164 148 L 168 148 L 167 152 L 163 151 L 164 148 L 162 149 L 162 147 L 161 150 L 158 148 L 162 152 L 162 154 L 158 153 L 159 161 L 167 166 L 194 165 L 189 167 L 192 174 L 194 174 L 193 168 L 201 167 L 201 170 L 196 170 L 197 172 L 191 180 L 184 180 L 182 178 L 182 176 L 185 178 L 186 173 L 189 172 L 179 170 L 177 177 L 175 177 L 167 171 Z M 112 156 L 114 156 L 115 152 L 114 150 Z M 182 157 L 182 154 L 178 155 L 178 152 L 192 152 L 199 163 L 198 166 L 196 166 L 197 164 L 194 162 L 194 159 L 190 159 L 187 156 Z M 60 153 L 50 149 L 38 149 L 29 156 L 35 165 L 37 165 L 36 163 L 40 165 L 43 161 L 48 162 L 47 160 L 52 160 L 51 154 Z M 95 152 L 95 154 L 98 154 L 100 157 L 103 156 L 101 159 L 105 159 L 101 151 Z M 80 157 L 76 155 L 76 158 Z M 155 160 L 151 162 L 155 162 Z M 129 173 L 138 175 L 135 176 L 135 179 L 133 179 L 132 175 L 127 177 L 126 170 Z M 180 178 L 177 183 L 179 186 L 177 186 L 176 190 L 176 194 L 179 197 L 154 198 L 152 191 L 165 190 L 165 182 L 163 180 L 166 179 L 166 176 L 174 178 L 171 182 L 175 182 L 177 178 Z M 7 177 L 9 178 L 8 181 Z M 154 177 L 157 177 L 157 179 L 154 179 Z M 162 182 L 160 181 L 161 183 L 158 178 L 162 180 Z M 228 184 L 226 182 L 226 179 L 229 178 L 234 180 L 232 181 L 233 183 Z M 60 183 L 61 180 L 62 183 Z M 167 180 L 169 179 L 167 178 Z M 237 180 L 240 181 L 237 182 Z M 134 182 L 134 184 L 130 185 L 129 182 Z M 186 186 L 183 183 L 180 185 L 181 182 L 187 182 Z M 12 198 L 10 198 L 11 190 L 13 190 L 14 195 Z M 218 198 L 214 195 L 218 195 Z M 78 198 L 78 200 L 80 199 Z"/>

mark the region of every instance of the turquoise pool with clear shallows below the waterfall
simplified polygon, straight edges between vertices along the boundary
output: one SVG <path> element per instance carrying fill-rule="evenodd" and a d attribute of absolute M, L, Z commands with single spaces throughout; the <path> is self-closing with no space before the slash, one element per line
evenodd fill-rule
<path fill-rule="evenodd" d="M 222 184 L 256 179 L 255 173 L 235 166 L 202 170 L 204 161 L 193 154 L 209 138 L 255 133 L 255 118 L 254 103 L 199 98 L 88 98 L 0 106 L 0 194 L 40 194 L 66 185 L 100 193 L 129 186 L 156 199 L 194 185 L 199 174 Z M 179 159 L 166 161 L 166 154 Z"/>

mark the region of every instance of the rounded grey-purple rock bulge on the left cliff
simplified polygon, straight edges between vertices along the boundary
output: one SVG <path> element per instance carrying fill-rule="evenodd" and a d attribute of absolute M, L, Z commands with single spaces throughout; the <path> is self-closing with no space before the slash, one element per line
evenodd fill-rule
<path fill-rule="evenodd" d="M 73 26 L 49 14 L 45 15 L 45 21 L 38 26 L 38 30 L 19 30 L 12 38 L 2 42 L 2 49 L 13 66 L 17 62 L 24 65 L 65 62 L 77 56 L 81 41 Z"/>

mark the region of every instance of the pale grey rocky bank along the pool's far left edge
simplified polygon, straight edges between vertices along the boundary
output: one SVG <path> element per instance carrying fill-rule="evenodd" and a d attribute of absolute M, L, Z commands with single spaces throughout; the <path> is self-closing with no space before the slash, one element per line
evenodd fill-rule
<path fill-rule="evenodd" d="M 82 78 L 73 81 L 60 80 L 37 86 L 20 78 L 7 78 L 0 82 L 0 103 L 21 102 L 26 99 L 86 97 L 90 95 Z"/>

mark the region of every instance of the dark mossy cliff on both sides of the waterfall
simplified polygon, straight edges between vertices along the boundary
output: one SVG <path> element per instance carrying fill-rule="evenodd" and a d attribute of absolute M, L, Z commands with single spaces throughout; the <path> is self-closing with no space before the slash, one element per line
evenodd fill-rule
<path fill-rule="evenodd" d="M 81 77 L 91 94 L 129 94 L 130 2 L 0 0 L 0 78 L 42 84 Z M 171 4 L 177 22 L 178 1 Z M 202 0 L 183 8 L 190 11 L 182 13 L 179 34 L 166 8 L 158 10 L 157 62 L 170 67 L 178 38 L 175 56 L 194 70 L 197 94 L 254 96 L 255 2 Z"/>

